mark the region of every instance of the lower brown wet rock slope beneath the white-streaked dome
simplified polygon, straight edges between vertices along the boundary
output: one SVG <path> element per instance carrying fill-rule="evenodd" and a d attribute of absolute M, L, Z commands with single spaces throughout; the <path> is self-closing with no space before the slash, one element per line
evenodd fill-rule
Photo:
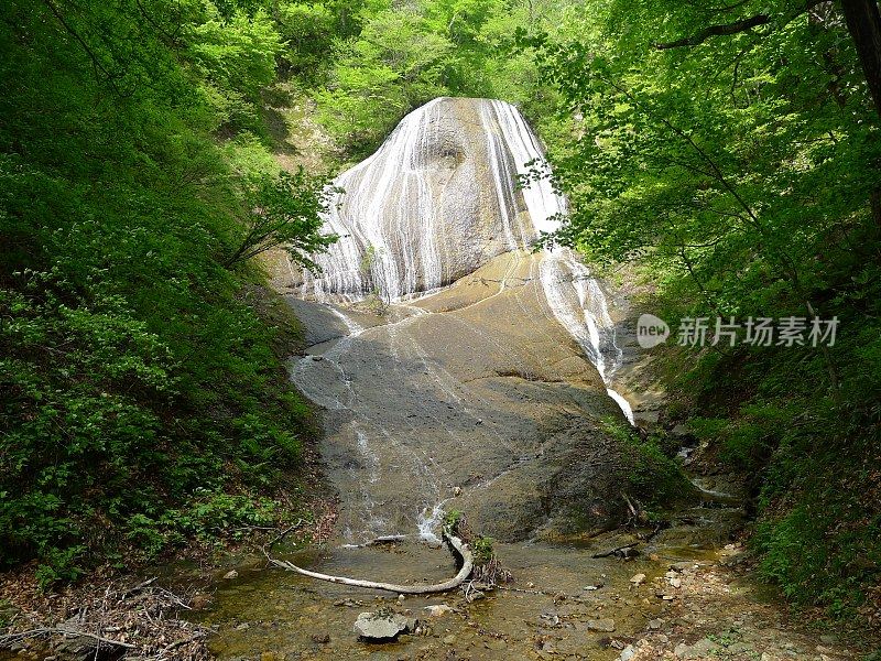
<path fill-rule="evenodd" d="M 348 316 L 348 336 L 292 365 L 325 409 L 346 541 L 427 530 L 440 508 L 509 541 L 621 520 L 629 455 L 603 421 L 623 415 L 547 312 L 540 261 L 505 253 L 370 326 Z"/>

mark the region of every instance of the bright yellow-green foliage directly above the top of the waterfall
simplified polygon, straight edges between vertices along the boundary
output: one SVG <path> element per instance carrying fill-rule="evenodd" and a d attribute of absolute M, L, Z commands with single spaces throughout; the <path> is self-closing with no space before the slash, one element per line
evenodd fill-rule
<path fill-rule="evenodd" d="M 311 75 L 301 82 L 316 86 L 320 119 L 350 159 L 366 156 L 404 115 L 438 96 L 519 102 L 553 134 L 556 95 L 540 85 L 532 57 L 513 52 L 513 33 L 555 30 L 569 4 L 377 0 L 354 14 L 357 30 L 339 32 L 329 50 L 316 46 L 328 57 L 320 84 Z"/>

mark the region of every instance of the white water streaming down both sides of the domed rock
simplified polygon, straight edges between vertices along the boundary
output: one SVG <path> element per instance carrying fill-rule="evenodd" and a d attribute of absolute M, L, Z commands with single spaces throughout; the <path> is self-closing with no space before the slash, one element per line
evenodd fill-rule
<path fill-rule="evenodd" d="M 317 278 L 304 274 L 304 294 L 319 301 L 328 295 L 355 301 L 374 293 L 401 301 L 442 285 L 443 250 L 425 164 L 436 143 L 433 131 L 443 102 L 434 99 L 407 115 L 373 155 L 334 182 L 344 193 L 336 195 L 325 230 L 341 238 L 326 254 L 315 257 L 323 272 Z M 566 198 L 554 191 L 548 176 L 531 176 L 543 169 L 550 172 L 542 145 L 520 111 L 504 101 L 476 102 L 505 245 L 511 251 L 529 249 L 542 234 L 559 229 Z M 529 183 L 520 187 L 518 178 Z M 523 210 L 529 213 L 525 225 Z M 622 353 L 599 283 L 572 250 L 561 247 L 543 251 L 540 279 L 554 316 L 610 386 Z M 627 400 L 611 388 L 609 395 L 632 423 Z"/>

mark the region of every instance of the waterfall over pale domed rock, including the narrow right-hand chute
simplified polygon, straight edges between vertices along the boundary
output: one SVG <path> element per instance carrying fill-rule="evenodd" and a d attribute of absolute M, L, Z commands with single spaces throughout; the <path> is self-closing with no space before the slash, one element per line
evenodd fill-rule
<path fill-rule="evenodd" d="M 449 122 L 453 115 L 458 123 Z M 474 132 L 461 136 L 463 126 Z M 325 215 L 325 228 L 340 240 L 315 257 L 322 272 L 304 273 L 303 295 L 400 301 L 449 284 L 497 254 L 531 249 L 566 214 L 566 199 L 547 177 L 518 185 L 544 163 L 535 133 L 514 106 L 429 101 L 334 182 L 342 192 Z M 540 279 L 554 316 L 608 387 L 622 354 L 599 283 L 562 247 L 542 252 Z M 632 423 L 627 400 L 608 393 Z"/>

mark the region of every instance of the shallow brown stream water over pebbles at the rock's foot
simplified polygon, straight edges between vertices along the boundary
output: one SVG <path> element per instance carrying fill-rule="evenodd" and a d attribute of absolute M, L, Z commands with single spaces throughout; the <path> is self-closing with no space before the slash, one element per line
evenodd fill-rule
<path fill-rule="evenodd" d="M 272 654 L 264 659 L 276 660 L 530 659 L 551 651 L 561 658 L 612 660 L 620 654 L 613 641 L 622 641 L 622 647 L 668 608 L 645 587 L 648 582 L 674 562 L 718 559 L 718 548 L 695 540 L 727 540 L 730 512 L 707 511 L 711 523 L 665 531 L 656 542 L 642 545 L 642 554 L 632 561 L 591 557 L 630 542 L 633 538 L 628 535 L 570 544 L 497 544 L 515 579 L 474 603 L 458 590 L 399 600 L 388 593 L 323 583 L 261 563 L 241 567 L 236 579 L 219 581 L 215 604 L 202 621 L 217 626 L 211 651 L 229 660 L 259 659 L 264 653 Z M 286 557 L 315 571 L 378 581 L 437 582 L 456 572 L 445 550 L 415 541 L 390 548 L 328 548 L 320 554 Z M 638 573 L 646 575 L 646 584 L 639 588 L 630 582 Z M 585 589 L 589 587 L 596 589 Z M 437 604 L 455 611 L 429 617 L 425 606 Z M 402 635 L 391 643 L 360 641 L 352 631 L 358 614 L 382 606 L 418 618 L 429 632 Z M 614 631 L 588 630 L 588 620 L 605 618 L 614 620 Z M 329 641 L 320 642 L 325 636 Z"/>

